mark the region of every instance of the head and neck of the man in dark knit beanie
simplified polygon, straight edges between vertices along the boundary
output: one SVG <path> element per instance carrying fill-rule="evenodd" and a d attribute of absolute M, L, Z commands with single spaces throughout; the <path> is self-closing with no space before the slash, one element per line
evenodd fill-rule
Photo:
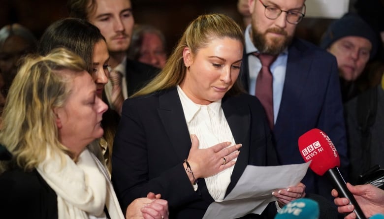
<path fill-rule="evenodd" d="M 377 34 L 359 15 L 348 13 L 329 25 L 320 47 L 336 57 L 346 102 L 359 93 L 354 82 L 377 52 Z"/>

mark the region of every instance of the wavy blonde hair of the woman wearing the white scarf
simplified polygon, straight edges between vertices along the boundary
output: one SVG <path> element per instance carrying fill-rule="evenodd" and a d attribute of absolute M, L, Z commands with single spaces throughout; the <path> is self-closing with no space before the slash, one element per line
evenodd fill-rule
<path fill-rule="evenodd" d="M 64 153 L 70 155 L 59 142 L 53 109 L 64 106 L 70 79 L 81 73 L 86 73 L 84 61 L 64 48 L 25 58 L 2 114 L 0 143 L 13 154 L 12 163 L 32 170 L 45 159 L 47 147 L 52 153 L 61 151 L 62 161 Z"/>

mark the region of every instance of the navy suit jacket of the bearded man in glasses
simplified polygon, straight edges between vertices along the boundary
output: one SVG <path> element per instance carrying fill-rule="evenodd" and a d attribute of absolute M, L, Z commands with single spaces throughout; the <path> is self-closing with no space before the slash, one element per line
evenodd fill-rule
<path fill-rule="evenodd" d="M 248 91 L 246 54 L 240 77 Z M 312 128 L 328 134 L 340 155 L 343 174 L 346 174 L 349 162 L 336 59 L 313 44 L 294 39 L 288 48 L 283 95 L 272 137 L 281 164 L 304 162 L 298 150 L 298 138 Z M 333 200 L 327 179 L 320 179 L 309 170 L 302 182 L 307 186 L 307 193 L 318 193 Z"/>

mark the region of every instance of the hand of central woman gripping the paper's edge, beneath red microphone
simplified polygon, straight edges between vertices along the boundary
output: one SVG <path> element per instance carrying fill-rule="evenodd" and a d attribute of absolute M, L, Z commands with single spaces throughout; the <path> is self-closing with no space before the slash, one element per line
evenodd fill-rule
<path fill-rule="evenodd" d="M 297 184 L 294 187 L 288 187 L 272 192 L 272 195 L 276 196 L 279 200 L 279 206 L 282 208 L 289 202 L 298 198 L 305 197 L 305 185 L 302 183 Z"/>

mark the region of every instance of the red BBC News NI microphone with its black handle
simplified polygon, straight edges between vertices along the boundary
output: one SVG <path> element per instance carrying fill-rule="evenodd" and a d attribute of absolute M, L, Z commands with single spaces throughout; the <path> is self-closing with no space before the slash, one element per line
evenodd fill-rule
<path fill-rule="evenodd" d="M 305 162 L 312 160 L 309 167 L 316 174 L 326 175 L 341 197 L 350 200 L 358 219 L 365 219 L 360 206 L 348 190 L 340 174 L 340 157 L 331 139 L 318 128 L 311 129 L 299 137 L 299 151 Z"/>

